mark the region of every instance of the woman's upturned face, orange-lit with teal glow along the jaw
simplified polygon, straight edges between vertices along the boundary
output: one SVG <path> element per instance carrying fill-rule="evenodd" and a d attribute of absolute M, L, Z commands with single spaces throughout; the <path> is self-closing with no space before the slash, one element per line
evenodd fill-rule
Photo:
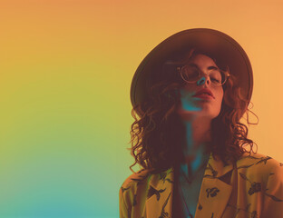
<path fill-rule="evenodd" d="M 195 64 L 200 70 L 201 77 L 198 82 L 193 84 L 187 83 L 181 88 L 181 104 L 177 112 L 183 119 L 190 119 L 191 115 L 213 119 L 220 114 L 223 88 L 222 86 L 213 85 L 213 81 L 210 81 L 208 74 L 210 74 L 210 69 L 213 66 L 218 66 L 209 56 L 204 54 L 195 55 L 188 64 Z M 209 89 L 213 96 L 207 94 L 194 96 L 204 88 Z"/>

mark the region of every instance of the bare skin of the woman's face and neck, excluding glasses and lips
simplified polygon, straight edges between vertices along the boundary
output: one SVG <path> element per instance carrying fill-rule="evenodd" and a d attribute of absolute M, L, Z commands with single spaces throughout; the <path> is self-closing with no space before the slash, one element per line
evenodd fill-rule
<path fill-rule="evenodd" d="M 201 72 L 200 80 L 195 84 L 186 84 L 181 91 L 181 103 L 177 113 L 186 127 L 186 146 L 183 147 L 186 163 L 181 164 L 183 172 L 189 177 L 189 167 L 194 176 L 198 173 L 200 166 L 207 163 L 208 159 L 203 157 L 206 144 L 210 143 L 211 121 L 220 114 L 223 99 L 222 86 L 211 84 L 208 67 L 216 66 L 214 61 L 207 55 L 197 54 L 190 63 L 196 64 Z M 193 97 L 200 89 L 208 88 L 214 95 L 213 99 L 204 100 Z M 190 163 L 190 164 L 189 164 Z"/>

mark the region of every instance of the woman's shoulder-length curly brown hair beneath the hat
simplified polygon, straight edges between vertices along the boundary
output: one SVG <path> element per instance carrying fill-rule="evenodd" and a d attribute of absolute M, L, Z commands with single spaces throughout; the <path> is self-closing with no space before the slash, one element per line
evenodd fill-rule
<path fill-rule="evenodd" d="M 155 72 L 156 76 L 151 78 L 151 86 L 147 90 L 150 97 L 132 108 L 132 147 L 128 149 L 131 150 L 135 162 L 130 166 L 131 171 L 136 163 L 143 169 L 166 170 L 183 157 L 181 144 L 185 142 L 186 133 L 176 109 L 180 104 L 180 89 L 185 82 L 180 74 L 173 72 L 176 65 L 183 64 L 196 54 L 205 53 L 191 49 L 185 54 L 175 54 L 162 64 Z M 205 55 L 210 56 L 220 67 L 215 58 L 210 54 Z M 225 68 L 229 72 L 229 67 Z M 230 74 L 228 81 L 223 84 L 220 114 L 211 122 L 211 142 L 206 152 L 212 153 L 213 158 L 220 157 L 224 164 L 236 162 L 244 153 L 250 154 L 255 144 L 248 138 L 247 125 L 240 123 L 243 114 L 247 114 L 247 123 L 251 124 L 249 112 L 252 112 L 238 83 L 237 78 Z M 137 115 L 140 117 L 137 118 Z M 258 116 L 254 115 L 259 122 Z M 249 152 L 244 148 L 245 145 L 249 145 Z"/>

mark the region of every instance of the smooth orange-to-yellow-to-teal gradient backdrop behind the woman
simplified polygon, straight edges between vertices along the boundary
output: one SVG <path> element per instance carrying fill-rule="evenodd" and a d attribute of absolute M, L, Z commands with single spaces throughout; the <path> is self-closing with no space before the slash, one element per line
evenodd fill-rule
<path fill-rule="evenodd" d="M 249 137 L 282 162 L 282 11 L 279 0 L 1 0 L 0 217 L 119 216 L 132 173 L 132 75 L 187 28 L 244 47 L 259 116 Z"/>

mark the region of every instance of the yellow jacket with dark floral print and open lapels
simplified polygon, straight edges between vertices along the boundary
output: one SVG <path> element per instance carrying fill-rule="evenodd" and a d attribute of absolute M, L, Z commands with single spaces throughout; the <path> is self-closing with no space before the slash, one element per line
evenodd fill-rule
<path fill-rule="evenodd" d="M 119 192 L 121 218 L 169 218 L 173 169 L 141 170 Z M 227 175 L 230 182 L 227 182 Z M 263 154 L 244 154 L 224 165 L 210 154 L 195 218 L 283 218 L 283 163 Z"/>

